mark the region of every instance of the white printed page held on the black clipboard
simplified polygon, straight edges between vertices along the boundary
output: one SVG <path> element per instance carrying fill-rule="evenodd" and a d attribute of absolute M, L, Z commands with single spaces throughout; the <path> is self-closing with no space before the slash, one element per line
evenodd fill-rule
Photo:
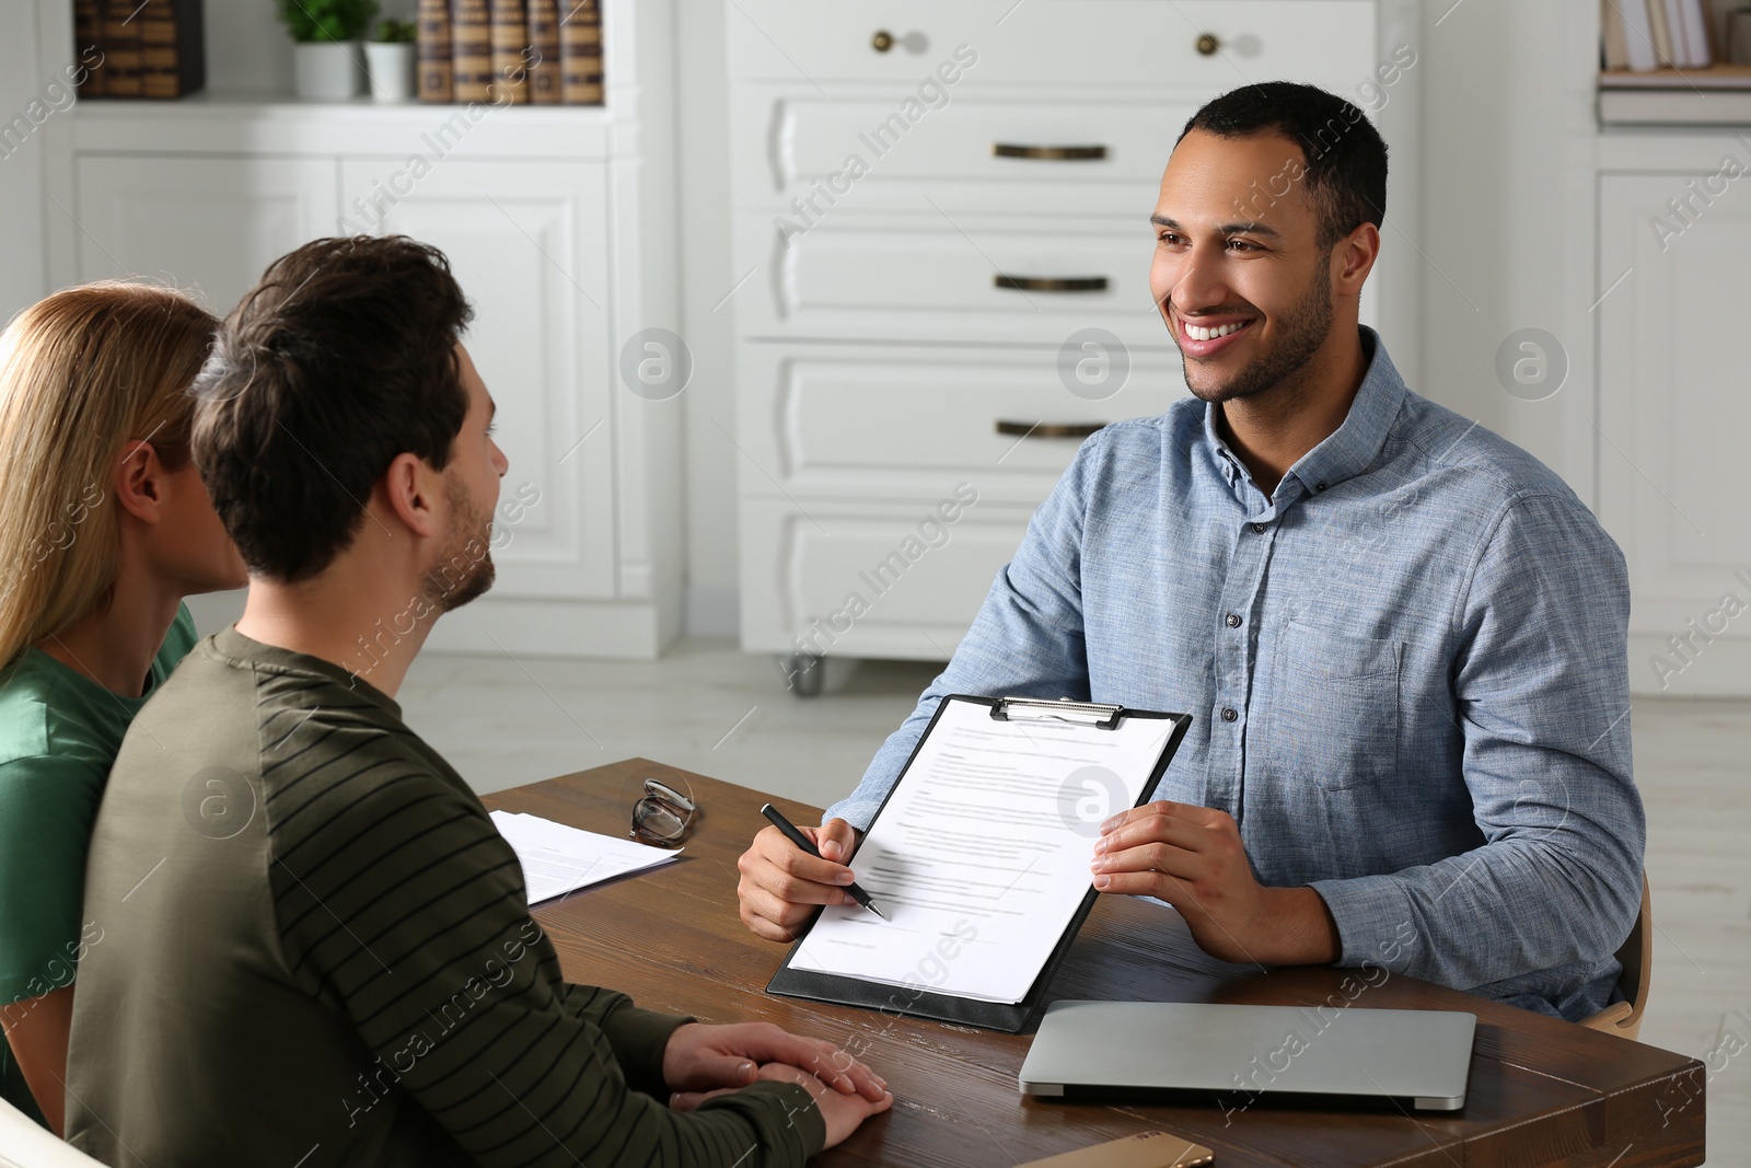
<path fill-rule="evenodd" d="M 1173 727 L 947 700 L 851 862 L 888 919 L 825 909 L 791 968 L 1021 1002 L 1089 890 L 1101 821 L 1136 804 Z"/>

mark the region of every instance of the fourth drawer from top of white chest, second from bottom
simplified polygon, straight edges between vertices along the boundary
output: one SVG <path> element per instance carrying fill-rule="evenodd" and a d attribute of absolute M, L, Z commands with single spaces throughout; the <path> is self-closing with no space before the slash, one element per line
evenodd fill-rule
<path fill-rule="evenodd" d="M 741 361 L 749 496 L 928 499 L 970 482 L 1031 508 L 1080 445 L 1054 427 L 1163 413 L 1187 392 L 1178 354 L 1164 352 L 1077 348 L 1061 371 L 1052 347 L 746 343 Z"/>

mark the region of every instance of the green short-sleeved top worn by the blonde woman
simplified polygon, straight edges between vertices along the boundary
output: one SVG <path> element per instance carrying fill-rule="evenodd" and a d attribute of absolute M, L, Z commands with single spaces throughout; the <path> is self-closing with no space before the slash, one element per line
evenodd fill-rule
<path fill-rule="evenodd" d="M 182 606 L 142 697 L 112 693 L 37 648 L 0 672 L 0 1007 L 72 984 L 89 944 L 79 900 L 103 783 L 128 723 L 194 641 Z M 42 1122 L 5 1042 L 0 1096 Z"/>

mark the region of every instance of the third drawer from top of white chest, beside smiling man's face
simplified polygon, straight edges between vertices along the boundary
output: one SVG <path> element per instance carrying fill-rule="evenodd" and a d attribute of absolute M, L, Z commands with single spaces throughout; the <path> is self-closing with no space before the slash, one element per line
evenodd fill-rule
<path fill-rule="evenodd" d="M 737 214 L 744 336 L 1023 341 L 1059 345 L 1100 326 L 1133 347 L 1171 347 L 1149 291 L 1145 214 L 1110 221 L 833 212 Z"/>

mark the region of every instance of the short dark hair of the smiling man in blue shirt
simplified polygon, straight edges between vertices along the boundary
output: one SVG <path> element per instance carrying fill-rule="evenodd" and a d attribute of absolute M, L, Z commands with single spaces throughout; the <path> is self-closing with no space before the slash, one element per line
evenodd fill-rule
<path fill-rule="evenodd" d="M 1387 217 L 1387 144 L 1361 107 L 1334 93 L 1292 81 L 1241 86 L 1192 114 L 1180 140 L 1192 130 L 1219 138 L 1275 133 L 1297 144 L 1322 249 Z"/>

